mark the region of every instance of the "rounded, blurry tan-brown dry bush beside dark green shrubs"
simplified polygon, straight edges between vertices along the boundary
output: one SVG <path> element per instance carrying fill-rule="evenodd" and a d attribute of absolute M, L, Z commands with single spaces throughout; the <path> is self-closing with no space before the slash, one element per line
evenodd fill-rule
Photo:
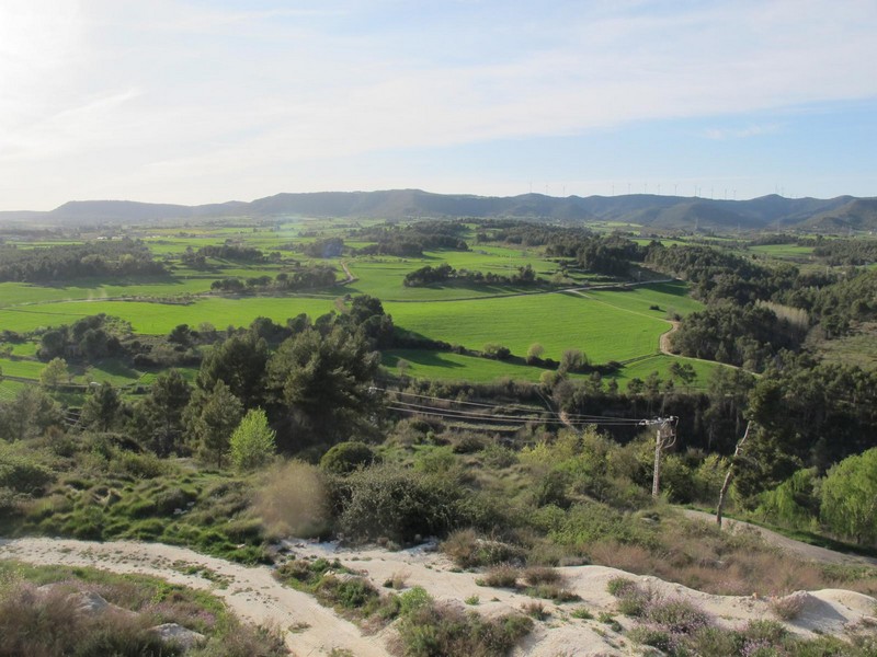
<path fill-rule="evenodd" d="M 322 473 L 301 461 L 274 466 L 265 474 L 253 508 L 270 535 L 320 535 L 330 518 Z"/>

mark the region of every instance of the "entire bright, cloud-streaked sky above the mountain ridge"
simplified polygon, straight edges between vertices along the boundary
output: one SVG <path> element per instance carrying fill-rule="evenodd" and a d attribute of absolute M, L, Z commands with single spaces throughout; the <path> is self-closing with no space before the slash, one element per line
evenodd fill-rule
<path fill-rule="evenodd" d="M 877 196 L 874 0 L 0 0 L 0 210 Z"/>

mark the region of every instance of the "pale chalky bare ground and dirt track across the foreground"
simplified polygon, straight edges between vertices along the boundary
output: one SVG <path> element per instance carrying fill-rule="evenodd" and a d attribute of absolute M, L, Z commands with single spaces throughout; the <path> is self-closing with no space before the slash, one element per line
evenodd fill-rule
<path fill-rule="evenodd" d="M 463 604 L 478 597 L 470 607 L 483 614 L 501 614 L 520 610 L 533 599 L 506 589 L 478 586 L 478 575 L 459 573 L 444 556 L 428 549 L 388 552 L 383 549 L 348 550 L 331 543 L 293 541 L 288 544 L 297 557 L 326 556 L 339 558 L 345 566 L 360 570 L 380 588 L 392 577 L 407 587 L 422 586 L 435 599 Z M 192 586 L 212 589 L 225 599 L 240 616 L 257 623 L 274 623 L 285 632 L 286 643 L 299 657 L 328 655 L 332 648 L 350 650 L 357 657 L 388 655 L 387 643 L 392 629 L 368 635 L 355 624 L 321 607 L 312 597 L 277 583 L 266 566 L 246 567 L 191 550 L 157 543 L 112 541 L 92 543 L 65 539 L 16 539 L 0 541 L 0 558 L 16 558 L 34 564 L 69 564 L 94 566 L 116 573 L 141 573 Z M 205 568 L 204 574 L 185 574 L 187 566 Z M 190 568 L 191 569 L 191 568 Z M 755 597 L 713 596 L 670 584 L 654 577 L 627 575 L 602 566 L 559 568 L 566 587 L 581 596 L 580 602 L 555 606 L 547 621 L 536 630 L 515 655 L 557 657 L 578 655 L 637 655 L 639 649 L 599 620 L 570 616 L 576 607 L 584 606 L 596 616 L 612 612 L 616 600 L 606 592 L 606 583 L 618 575 L 640 581 L 664 597 L 682 597 L 711 614 L 726 626 L 743 625 L 751 619 L 772 618 L 767 600 Z M 800 593 L 804 611 L 789 627 L 802 636 L 817 633 L 843 634 L 863 619 L 874 619 L 874 598 L 861 593 L 827 589 Z M 618 616 L 630 625 L 631 621 Z"/>

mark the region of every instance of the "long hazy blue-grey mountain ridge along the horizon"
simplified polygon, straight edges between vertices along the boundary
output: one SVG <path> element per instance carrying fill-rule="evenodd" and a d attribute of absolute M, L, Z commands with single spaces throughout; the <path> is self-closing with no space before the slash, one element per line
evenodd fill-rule
<path fill-rule="evenodd" d="M 223 217 L 515 218 L 589 223 L 615 221 L 665 230 L 805 229 L 877 230 L 877 198 L 784 198 L 772 194 L 749 200 L 628 194 L 568 196 L 543 194 L 475 196 L 421 189 L 282 193 L 253 201 L 201 206 L 130 200 L 73 200 L 48 212 L 0 212 L 0 222 L 139 223 Z"/>

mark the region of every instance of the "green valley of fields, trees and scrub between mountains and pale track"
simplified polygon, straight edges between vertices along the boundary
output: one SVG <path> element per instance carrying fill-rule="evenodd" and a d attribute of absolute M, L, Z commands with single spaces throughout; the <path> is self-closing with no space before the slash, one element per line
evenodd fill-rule
<path fill-rule="evenodd" d="M 155 540 L 244 563 L 291 534 L 438 537 L 464 568 L 599 563 L 717 593 L 877 591 L 873 569 L 802 564 L 671 506 L 711 508 L 727 481 L 726 510 L 877 546 L 877 373 L 854 348 L 822 357 L 877 320 L 875 272 L 855 268 L 869 246 L 797 245 L 812 268 L 756 241 L 306 228 L 3 247 L 4 534 Z M 671 322 L 679 356 L 659 354 Z M 657 498 L 656 416 L 675 418 Z M 432 602 L 402 612 L 296 573 L 329 604 L 399 618 L 407 654 L 479 654 L 455 643 L 467 634 L 502 654 L 526 629 Z M 774 630 L 753 632 L 797 649 Z"/>

